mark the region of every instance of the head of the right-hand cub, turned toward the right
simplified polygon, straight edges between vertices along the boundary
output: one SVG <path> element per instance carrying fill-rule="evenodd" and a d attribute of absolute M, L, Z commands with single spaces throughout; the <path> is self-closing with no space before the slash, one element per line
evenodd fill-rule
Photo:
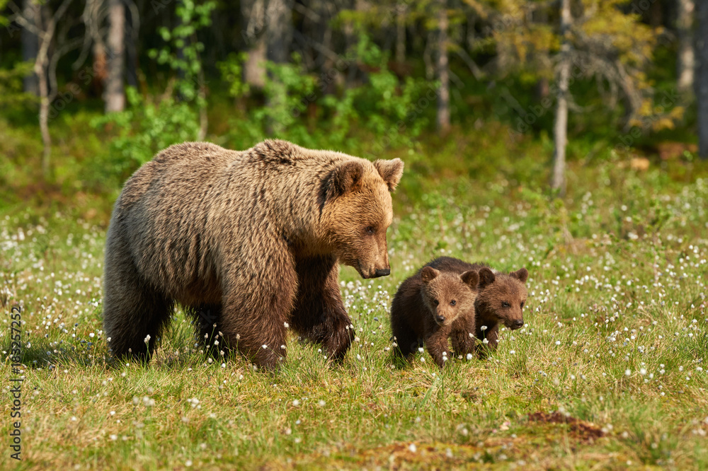
<path fill-rule="evenodd" d="M 510 274 L 494 274 L 488 267 L 479 270 L 479 291 L 477 305 L 485 315 L 503 322 L 511 330 L 524 325 L 524 305 L 526 303 L 527 269 L 518 269 Z"/>

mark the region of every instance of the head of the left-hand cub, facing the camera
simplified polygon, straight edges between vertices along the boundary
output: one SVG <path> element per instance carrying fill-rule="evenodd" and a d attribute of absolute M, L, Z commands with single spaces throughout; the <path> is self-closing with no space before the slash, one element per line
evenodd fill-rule
<path fill-rule="evenodd" d="M 474 312 L 474 289 L 479 281 L 476 271 L 463 274 L 440 272 L 433 267 L 421 269 L 423 303 L 438 325 L 450 325 L 457 316 Z"/>

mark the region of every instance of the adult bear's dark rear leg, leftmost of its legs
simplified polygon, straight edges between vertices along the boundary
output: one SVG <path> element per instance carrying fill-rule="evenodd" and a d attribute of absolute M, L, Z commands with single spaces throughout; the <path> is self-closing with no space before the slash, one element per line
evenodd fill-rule
<path fill-rule="evenodd" d="M 174 305 L 140 279 L 130 254 L 116 245 L 109 243 L 106 248 L 110 256 L 103 281 L 104 335 L 115 356 L 144 361 L 154 351 Z"/>

